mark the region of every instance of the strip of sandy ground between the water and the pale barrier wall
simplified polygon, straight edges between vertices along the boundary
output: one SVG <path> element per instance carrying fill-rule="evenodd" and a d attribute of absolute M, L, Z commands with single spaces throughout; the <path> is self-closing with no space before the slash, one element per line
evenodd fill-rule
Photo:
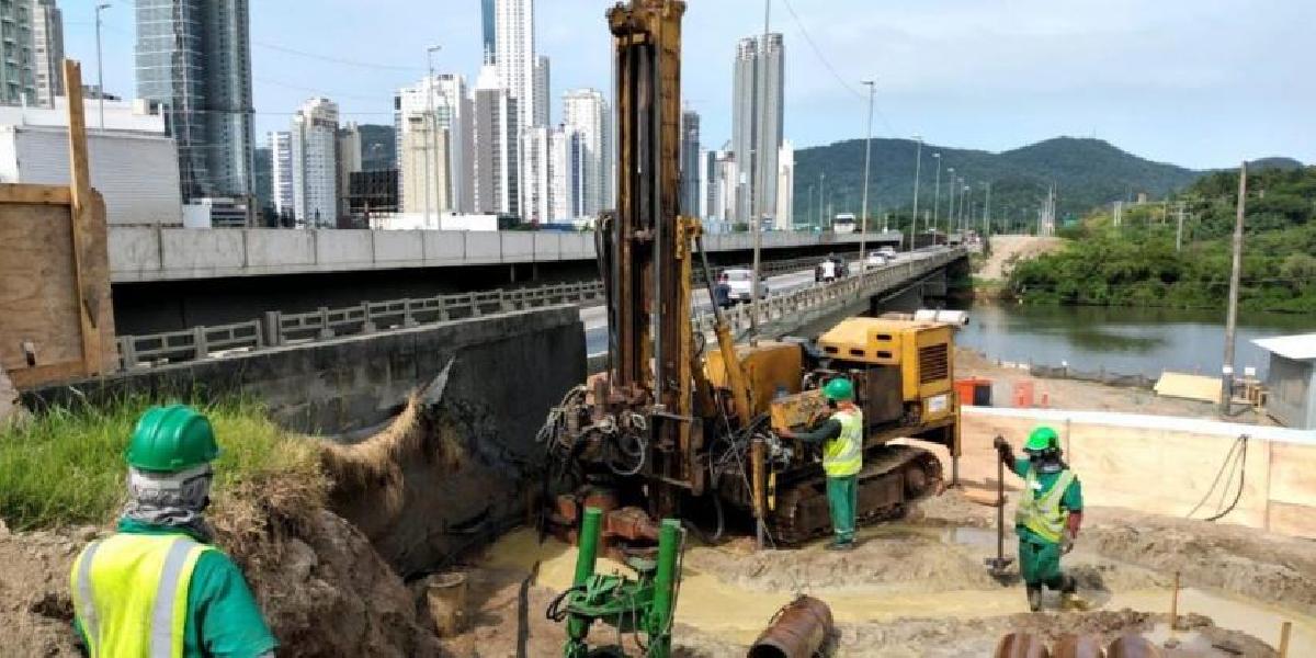
<path fill-rule="evenodd" d="M 1055 409 L 1074 411 L 1108 411 L 1123 413 L 1148 413 L 1155 416 L 1180 416 L 1187 418 L 1217 420 L 1216 405 L 1196 400 L 1183 400 L 1178 397 L 1162 397 L 1153 391 L 1144 388 L 1124 388 L 1104 386 L 1092 382 L 1078 382 L 1071 379 L 1045 379 L 1036 378 L 1016 367 L 1004 367 L 982 354 L 967 350 L 955 350 L 955 378 L 986 378 L 992 380 L 992 401 L 998 405 L 1008 405 L 1008 392 L 1017 382 L 1033 382 L 1034 401 Z M 1273 425 L 1274 422 L 1263 415 L 1250 409 L 1242 411 L 1230 422 L 1250 422 Z"/>

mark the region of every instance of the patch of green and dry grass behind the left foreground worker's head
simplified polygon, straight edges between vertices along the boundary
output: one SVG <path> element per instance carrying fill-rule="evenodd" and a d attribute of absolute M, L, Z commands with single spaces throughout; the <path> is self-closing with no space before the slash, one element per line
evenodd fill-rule
<path fill-rule="evenodd" d="M 145 397 L 57 408 L 0 428 L 0 519 L 16 530 L 109 522 L 124 503 L 124 449 Z M 220 442 L 215 497 L 274 476 L 322 484 L 318 451 L 245 399 L 195 404 Z"/>

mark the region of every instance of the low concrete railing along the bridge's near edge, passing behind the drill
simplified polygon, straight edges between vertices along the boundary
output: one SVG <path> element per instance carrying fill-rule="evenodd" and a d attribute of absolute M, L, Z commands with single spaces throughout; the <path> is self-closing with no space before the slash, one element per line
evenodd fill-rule
<path fill-rule="evenodd" d="M 920 254 L 908 261 L 865 271 L 840 279 L 828 286 L 776 292 L 751 307 L 747 304 L 728 309 L 732 328 L 737 332 L 750 326 L 750 313 L 759 313 L 759 322 L 767 324 L 816 309 L 838 300 L 854 299 L 917 279 L 962 257 L 958 251 Z M 812 262 L 811 259 L 809 262 Z M 778 263 L 782 268 L 799 270 L 801 263 Z M 343 336 L 407 329 L 425 324 L 479 317 L 486 313 L 522 311 L 555 304 L 591 305 L 603 301 L 603 282 L 555 283 L 534 288 L 492 290 L 437 295 L 420 299 L 388 301 L 362 301 L 354 307 L 326 308 L 301 313 L 270 311 L 263 318 L 215 326 L 195 326 L 182 332 L 118 337 L 121 367 L 136 368 L 150 365 L 199 361 L 234 351 L 253 351 L 303 342 L 322 341 Z M 697 330 L 712 330 L 713 315 L 703 312 L 692 318 Z"/>

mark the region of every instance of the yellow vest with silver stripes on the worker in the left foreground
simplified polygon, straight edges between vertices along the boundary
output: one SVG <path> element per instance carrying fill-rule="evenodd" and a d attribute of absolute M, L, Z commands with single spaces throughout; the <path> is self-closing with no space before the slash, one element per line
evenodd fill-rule
<path fill-rule="evenodd" d="M 87 546 L 71 591 L 88 654 L 182 658 L 188 586 L 207 550 L 178 534 L 120 533 Z"/>

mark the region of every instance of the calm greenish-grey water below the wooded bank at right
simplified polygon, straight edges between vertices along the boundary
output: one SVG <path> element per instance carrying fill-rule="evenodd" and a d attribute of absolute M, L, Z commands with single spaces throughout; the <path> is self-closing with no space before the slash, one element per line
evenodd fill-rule
<path fill-rule="evenodd" d="M 1082 371 L 1161 376 L 1162 371 L 1219 375 L 1224 311 L 1159 308 L 974 305 L 955 342 L 988 358 Z M 1255 338 L 1316 332 L 1316 316 L 1240 313 L 1237 372 L 1266 375 L 1269 355 Z"/>

